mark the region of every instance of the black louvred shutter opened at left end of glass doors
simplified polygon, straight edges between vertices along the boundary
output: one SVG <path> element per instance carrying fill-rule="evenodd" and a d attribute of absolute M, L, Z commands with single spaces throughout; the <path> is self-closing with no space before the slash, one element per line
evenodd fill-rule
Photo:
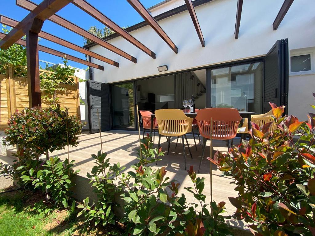
<path fill-rule="evenodd" d="M 101 131 L 111 130 L 110 120 L 110 97 L 109 85 L 96 81 L 89 81 L 89 95 L 90 95 L 90 132 L 95 133 Z M 97 110 L 100 118 L 97 115 Z"/>

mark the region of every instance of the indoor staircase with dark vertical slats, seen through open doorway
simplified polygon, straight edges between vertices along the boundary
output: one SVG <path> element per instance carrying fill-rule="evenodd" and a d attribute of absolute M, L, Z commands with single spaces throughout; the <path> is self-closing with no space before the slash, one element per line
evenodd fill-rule
<path fill-rule="evenodd" d="M 175 96 L 177 109 L 183 108 L 183 100 L 191 99 L 192 95 L 197 100 L 201 96 L 205 96 L 206 88 L 201 81 L 192 74 L 192 72 L 184 72 L 175 75 Z"/>

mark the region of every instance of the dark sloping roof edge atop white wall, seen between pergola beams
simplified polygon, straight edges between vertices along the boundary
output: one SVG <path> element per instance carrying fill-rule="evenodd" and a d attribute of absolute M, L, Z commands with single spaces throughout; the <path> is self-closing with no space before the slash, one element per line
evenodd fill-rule
<path fill-rule="evenodd" d="M 170 1 L 170 0 L 166 0 L 166 1 Z M 214 0 L 195 0 L 195 1 L 192 2 L 192 4 L 193 4 L 194 7 L 197 7 L 197 6 L 200 6 L 200 5 L 204 4 L 204 3 L 209 3 L 211 1 L 214 1 Z M 158 3 L 158 4 L 160 4 L 160 3 Z M 177 8 L 171 9 L 171 10 L 169 10 L 167 12 L 163 12 L 162 14 L 159 14 L 159 15 L 155 16 L 154 19 L 156 21 L 163 20 L 165 18 L 168 18 L 170 16 L 176 15 L 176 14 L 178 14 L 180 12 L 183 12 L 183 11 L 186 11 L 186 10 L 187 10 L 187 6 L 186 6 L 186 4 L 184 4 L 184 5 L 179 6 Z M 132 25 L 132 26 L 126 28 L 125 31 L 127 31 L 129 33 L 131 31 L 135 31 L 137 29 L 140 29 L 140 28 L 142 28 L 142 27 L 144 27 L 146 25 L 148 25 L 148 23 L 146 21 L 142 21 L 140 23 L 137 23 L 135 25 Z M 114 34 L 111 34 L 111 35 L 103 38 L 103 40 L 108 41 L 108 40 L 111 40 L 111 39 L 119 37 L 119 36 L 120 35 L 118 35 L 117 33 L 114 33 Z M 91 43 L 83 46 L 83 48 L 89 49 L 89 48 L 92 48 L 95 45 L 97 45 L 97 43 L 91 42 Z"/>

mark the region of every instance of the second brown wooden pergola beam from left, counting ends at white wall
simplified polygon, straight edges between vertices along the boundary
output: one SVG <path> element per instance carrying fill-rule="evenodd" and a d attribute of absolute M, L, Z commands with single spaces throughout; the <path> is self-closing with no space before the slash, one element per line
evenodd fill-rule
<path fill-rule="evenodd" d="M 14 28 L 14 27 L 16 27 L 16 25 L 19 24 L 19 21 L 13 20 L 13 19 L 11 19 L 9 17 L 6 17 L 6 16 L 3 16 L 3 15 L 0 15 L 0 24 L 8 25 L 8 26 Z M 119 67 L 119 63 L 116 62 L 116 61 L 113 61 L 111 59 L 103 57 L 103 56 L 101 56 L 101 55 L 99 55 L 97 53 L 89 51 L 88 49 L 85 49 L 83 47 L 77 46 L 77 45 L 75 45 L 75 44 L 73 44 L 71 42 L 63 40 L 63 39 L 61 39 L 59 37 L 56 37 L 54 35 L 51 35 L 49 33 L 44 32 L 44 31 L 40 31 L 38 33 L 38 36 L 41 37 L 41 38 L 47 39 L 47 40 L 49 40 L 51 42 L 57 43 L 59 45 L 62 45 L 64 47 L 67 47 L 67 48 L 70 48 L 72 50 L 75 50 L 77 52 L 80 52 L 80 53 L 83 53 L 85 55 L 88 55 L 88 56 L 91 56 L 93 58 L 96 58 L 96 59 L 98 59 L 100 61 L 106 62 L 106 63 L 108 63 L 110 65 L 114 65 L 116 67 Z"/>

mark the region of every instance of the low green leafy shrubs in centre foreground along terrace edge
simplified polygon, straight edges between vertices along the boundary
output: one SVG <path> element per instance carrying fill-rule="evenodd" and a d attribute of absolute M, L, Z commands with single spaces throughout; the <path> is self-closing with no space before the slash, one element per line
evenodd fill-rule
<path fill-rule="evenodd" d="M 194 188 L 186 188 L 192 192 L 198 204 L 187 203 L 184 194 L 178 196 L 177 181 L 169 182 L 165 177 L 166 169 L 151 168 L 151 164 L 164 155 L 161 149 L 154 149 L 151 137 L 141 139 L 138 152 L 139 162 L 132 166 L 133 171 L 122 173 L 124 167 L 119 163 L 111 166 L 106 154 L 92 155 L 96 166 L 92 169 L 90 183 L 98 194 L 98 202 L 89 205 L 89 198 L 78 205 L 83 209 L 79 215 L 84 215 L 85 222 L 97 225 L 114 224 L 119 221 L 125 226 L 125 235 L 227 235 L 231 234 L 224 223 L 226 217 L 225 203 L 218 205 L 212 202 L 205 204 L 206 196 L 202 194 L 204 178 L 196 178 L 196 171 L 190 167 L 188 174 Z M 107 170 L 105 172 L 105 170 Z M 172 192 L 169 194 L 167 189 Z M 123 200 L 124 216 L 114 215 L 113 208 L 119 206 L 117 197 Z M 202 209 L 197 211 L 197 207 Z M 213 216 L 211 216 L 211 210 Z M 79 216 L 78 215 L 78 216 Z"/>

